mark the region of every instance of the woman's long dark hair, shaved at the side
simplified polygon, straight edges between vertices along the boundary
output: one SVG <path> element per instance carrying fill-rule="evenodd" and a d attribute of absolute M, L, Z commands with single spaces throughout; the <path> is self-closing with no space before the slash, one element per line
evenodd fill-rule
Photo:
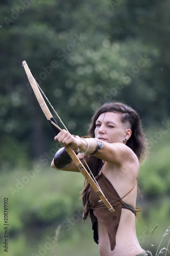
<path fill-rule="evenodd" d="M 128 128 L 132 131 L 132 135 L 128 139 L 126 145 L 133 150 L 139 161 L 143 162 L 148 155 L 148 142 L 142 130 L 140 117 L 134 109 L 122 102 L 108 102 L 102 105 L 91 118 L 88 135 L 94 138 L 94 131 L 96 127 L 95 122 L 98 117 L 105 112 L 114 112 L 120 114 L 122 123 L 128 125 Z M 92 170 L 93 175 L 96 176 L 102 166 L 102 160 L 95 156 L 87 156 L 87 158 L 88 166 Z M 86 194 L 88 189 L 89 184 L 87 183 L 82 191 L 84 205 L 86 204 Z M 85 219 L 86 217 L 83 218 Z"/>

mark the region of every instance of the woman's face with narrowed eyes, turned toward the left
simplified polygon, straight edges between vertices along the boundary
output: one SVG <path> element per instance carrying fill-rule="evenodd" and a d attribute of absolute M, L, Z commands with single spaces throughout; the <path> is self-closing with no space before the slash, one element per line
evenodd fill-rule
<path fill-rule="evenodd" d="M 114 112 L 102 113 L 95 123 L 95 138 L 108 143 L 124 142 L 129 138 L 131 130 L 127 129 L 120 120 L 120 114 Z"/>

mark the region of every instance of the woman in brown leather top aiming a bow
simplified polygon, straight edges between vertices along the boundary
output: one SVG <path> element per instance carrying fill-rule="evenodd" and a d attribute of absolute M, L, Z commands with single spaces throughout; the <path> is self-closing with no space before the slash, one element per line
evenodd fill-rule
<path fill-rule="evenodd" d="M 147 153 L 147 141 L 138 114 L 123 103 L 106 103 L 92 117 L 88 135 L 90 138 L 84 139 L 62 130 L 55 140 L 78 152 L 83 164 L 86 159 L 115 210 L 110 212 L 87 182 L 82 193 L 83 219 L 87 215 L 91 218 L 100 255 L 152 255 L 140 247 L 135 230 L 139 160 Z M 64 148 L 56 153 L 52 167 L 79 172 Z"/>

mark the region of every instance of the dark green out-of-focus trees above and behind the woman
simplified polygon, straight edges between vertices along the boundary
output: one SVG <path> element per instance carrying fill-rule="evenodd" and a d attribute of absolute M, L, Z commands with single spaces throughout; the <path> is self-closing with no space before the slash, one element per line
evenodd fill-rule
<path fill-rule="evenodd" d="M 85 135 L 92 112 L 113 99 L 145 125 L 167 120 L 169 8 L 157 0 L 3 1 L 1 165 L 25 164 L 54 145 L 23 60 L 71 133 Z"/>

